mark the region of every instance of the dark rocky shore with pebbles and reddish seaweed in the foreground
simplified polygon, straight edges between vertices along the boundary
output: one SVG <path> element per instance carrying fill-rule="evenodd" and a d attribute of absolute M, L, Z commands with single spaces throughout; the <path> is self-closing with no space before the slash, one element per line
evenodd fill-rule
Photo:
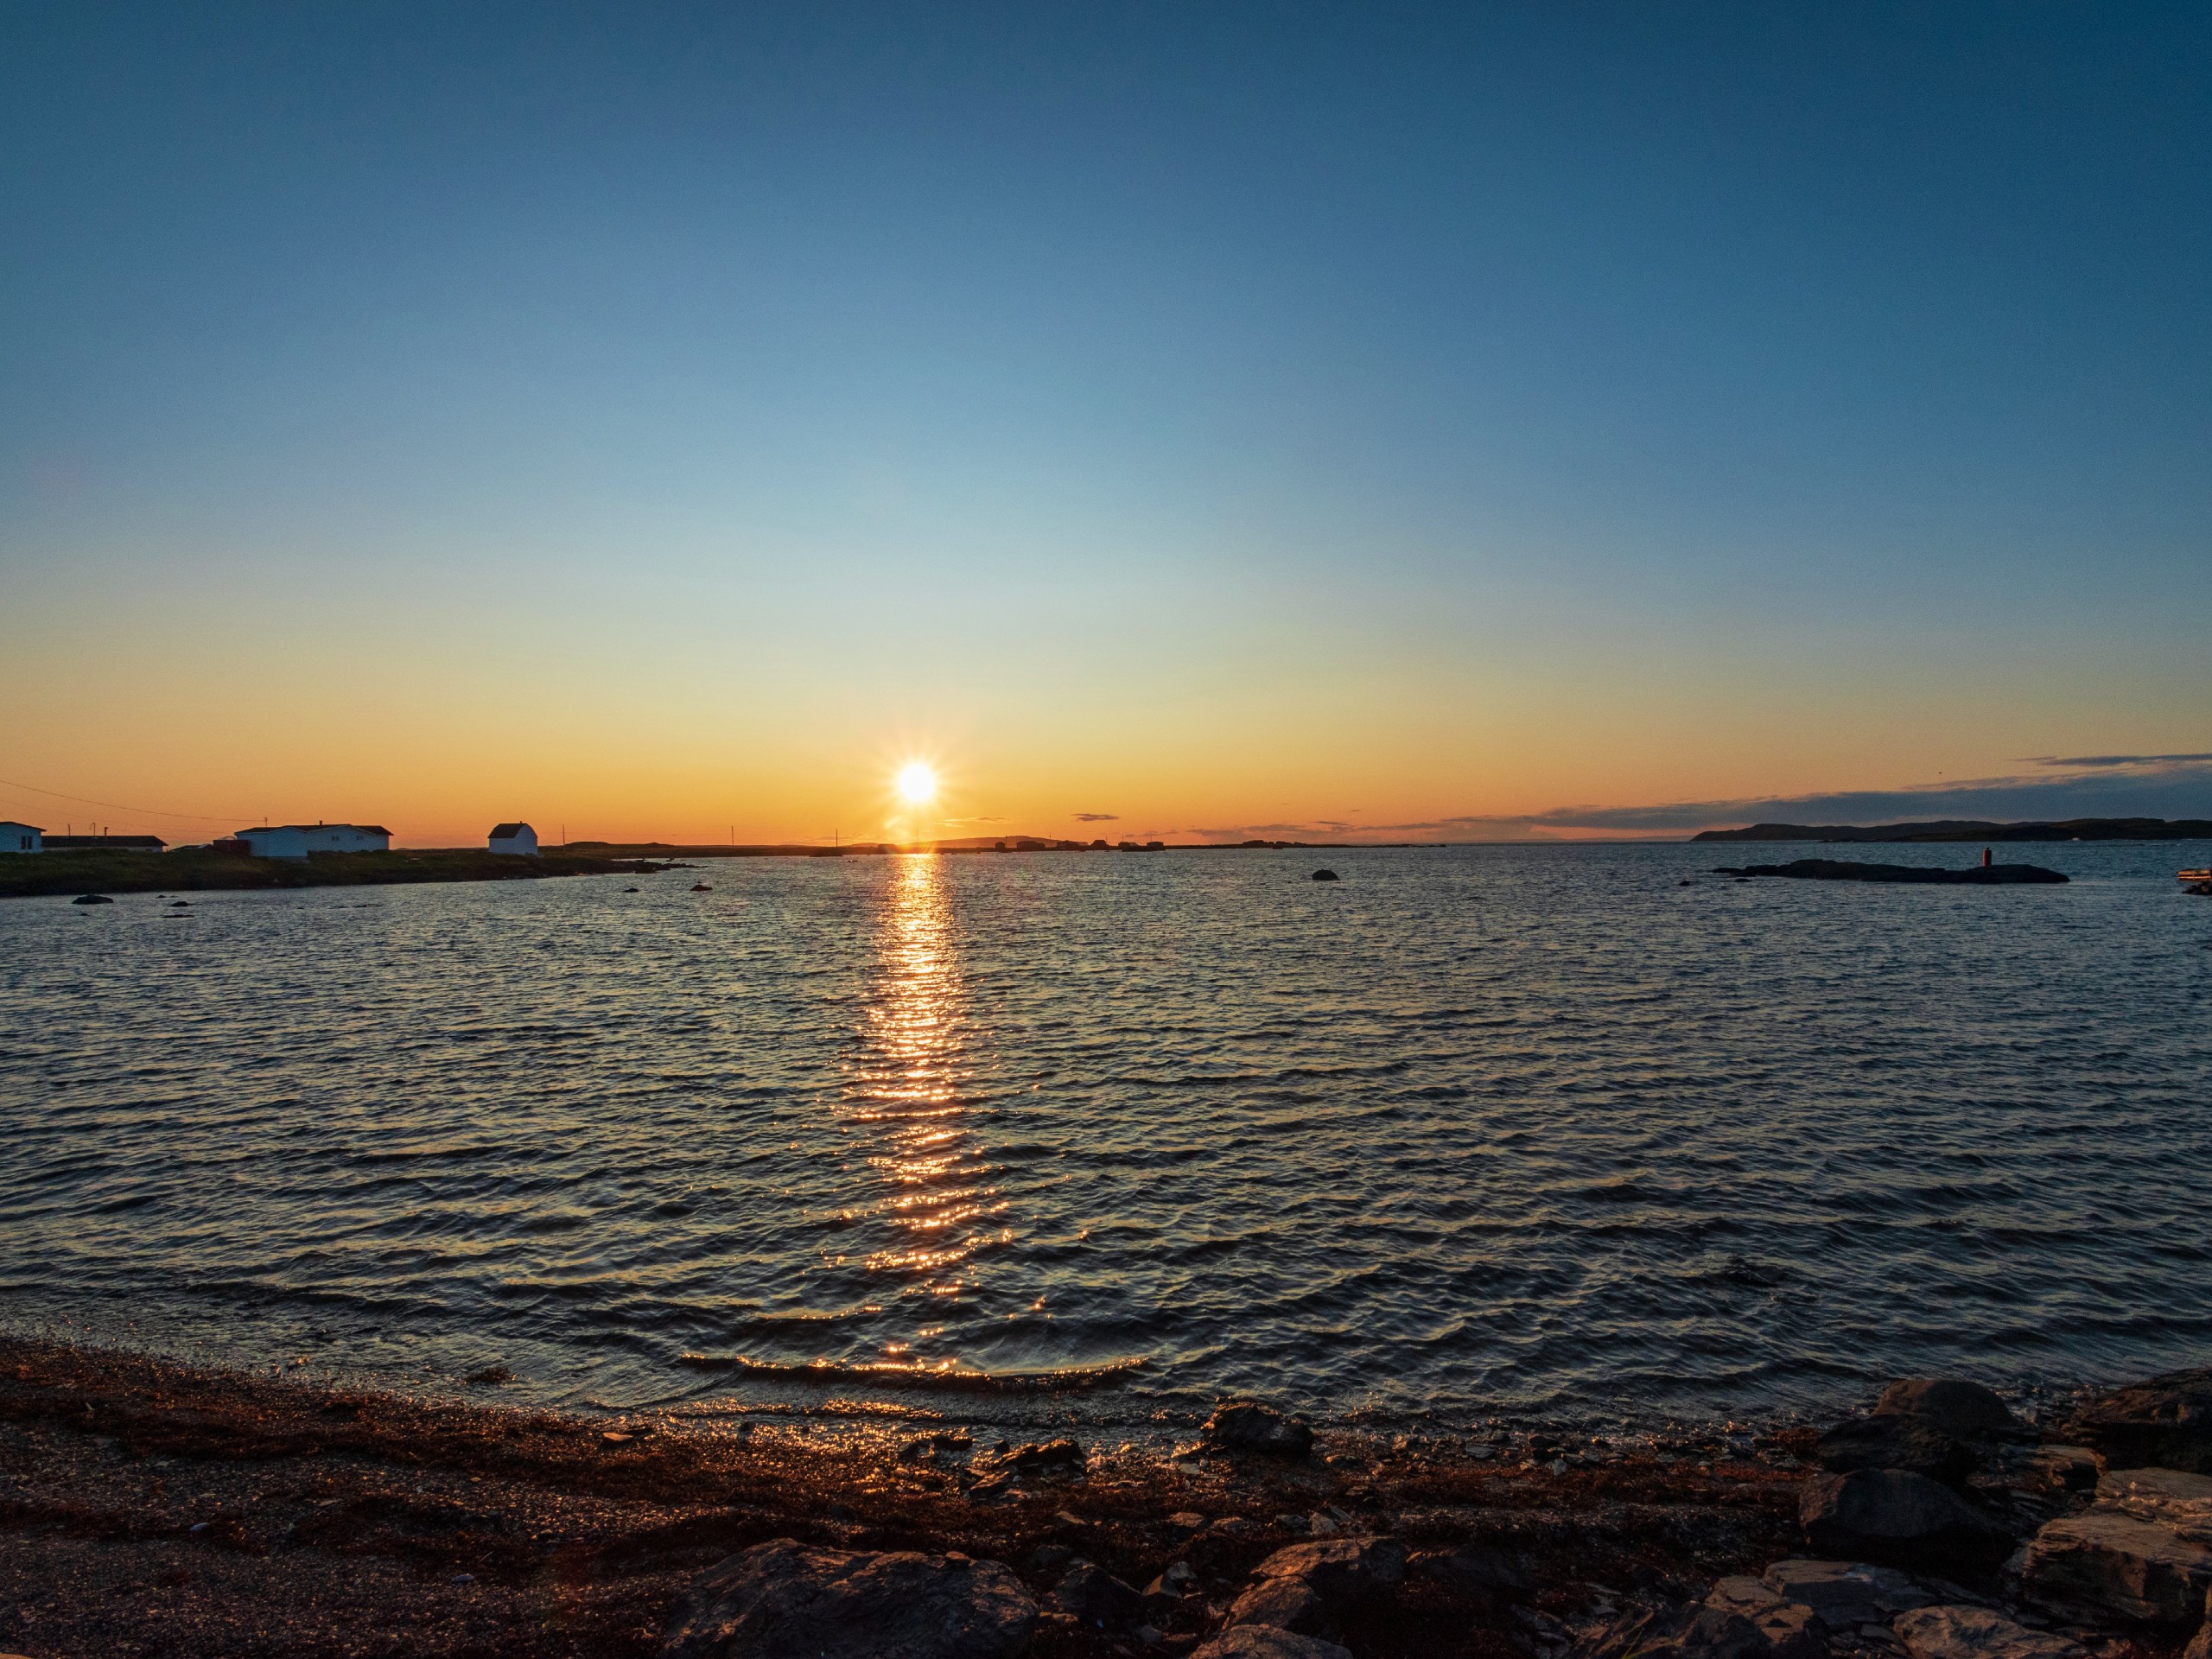
<path fill-rule="evenodd" d="M 852 1407 L 843 1422 L 852 1422 Z M 0 1648 L 668 1659 L 2212 1659 L 2212 1371 L 2022 1420 L 1002 1442 L 611 1420 L 0 1340 Z"/>

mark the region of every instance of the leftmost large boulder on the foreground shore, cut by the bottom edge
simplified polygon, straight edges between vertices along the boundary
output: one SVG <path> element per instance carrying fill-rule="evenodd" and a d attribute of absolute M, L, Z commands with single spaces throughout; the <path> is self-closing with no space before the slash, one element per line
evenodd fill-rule
<path fill-rule="evenodd" d="M 1013 1659 L 1037 1604 L 998 1562 L 754 1544 L 703 1573 L 664 1659 Z"/>

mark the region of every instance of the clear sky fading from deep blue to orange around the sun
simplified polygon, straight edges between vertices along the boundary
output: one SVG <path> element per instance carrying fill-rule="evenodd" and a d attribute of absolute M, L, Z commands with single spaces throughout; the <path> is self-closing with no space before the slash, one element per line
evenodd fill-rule
<path fill-rule="evenodd" d="M 13 4 L 0 816 L 2212 816 L 2208 86 L 2201 4 Z"/>

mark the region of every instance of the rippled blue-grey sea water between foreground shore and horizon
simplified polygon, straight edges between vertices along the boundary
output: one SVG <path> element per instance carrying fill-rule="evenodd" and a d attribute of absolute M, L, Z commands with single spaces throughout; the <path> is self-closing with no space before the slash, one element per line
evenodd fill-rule
<path fill-rule="evenodd" d="M 1741 856 L 1794 854 L 7 900 L 0 1318 L 619 1407 L 989 1371 L 1062 1387 L 960 1411 L 1121 1425 L 2208 1363 L 2203 843 L 1701 874 Z"/>

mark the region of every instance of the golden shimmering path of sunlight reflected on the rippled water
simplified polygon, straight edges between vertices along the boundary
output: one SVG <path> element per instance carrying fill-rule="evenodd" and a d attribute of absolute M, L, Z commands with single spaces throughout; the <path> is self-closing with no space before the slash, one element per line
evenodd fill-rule
<path fill-rule="evenodd" d="M 878 1203 L 896 1234 L 865 1265 L 902 1281 L 900 1294 L 956 1298 L 973 1285 L 975 1252 L 1002 1237 L 991 1217 L 1004 1199 L 964 1121 L 962 1091 L 973 1077 L 967 998 L 951 894 L 933 854 L 907 854 L 894 865 L 860 1035 L 863 1060 L 845 1110 L 872 1141 L 863 1161 L 883 1183 Z M 909 1352 L 909 1343 L 885 1347 L 894 1360 L 911 1363 Z"/>

